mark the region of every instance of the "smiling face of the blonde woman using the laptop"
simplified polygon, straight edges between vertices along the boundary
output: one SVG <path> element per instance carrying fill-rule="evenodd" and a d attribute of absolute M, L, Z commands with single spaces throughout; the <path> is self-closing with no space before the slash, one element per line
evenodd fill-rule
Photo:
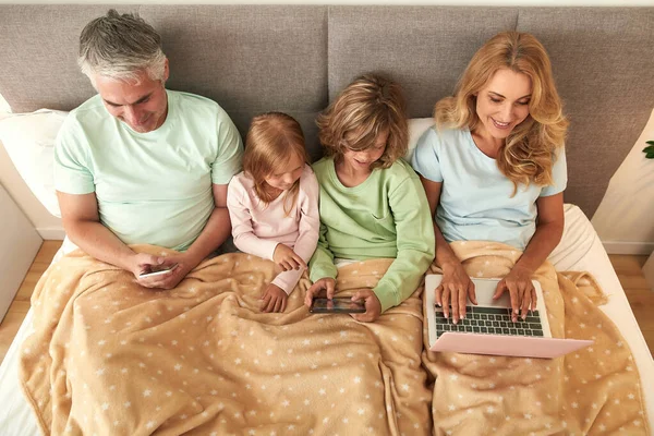
<path fill-rule="evenodd" d="M 531 93 L 532 83 L 526 74 L 498 70 L 476 96 L 476 113 L 483 130 L 505 140 L 529 117 Z"/>

